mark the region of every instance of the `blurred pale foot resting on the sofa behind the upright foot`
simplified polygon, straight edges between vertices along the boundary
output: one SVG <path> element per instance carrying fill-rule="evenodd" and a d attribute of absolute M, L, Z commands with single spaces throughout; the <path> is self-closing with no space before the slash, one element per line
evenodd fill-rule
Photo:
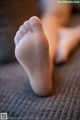
<path fill-rule="evenodd" d="M 59 31 L 59 43 L 57 47 L 56 59 L 57 64 L 66 62 L 69 54 L 77 47 L 80 41 L 80 27 L 61 28 Z"/>

